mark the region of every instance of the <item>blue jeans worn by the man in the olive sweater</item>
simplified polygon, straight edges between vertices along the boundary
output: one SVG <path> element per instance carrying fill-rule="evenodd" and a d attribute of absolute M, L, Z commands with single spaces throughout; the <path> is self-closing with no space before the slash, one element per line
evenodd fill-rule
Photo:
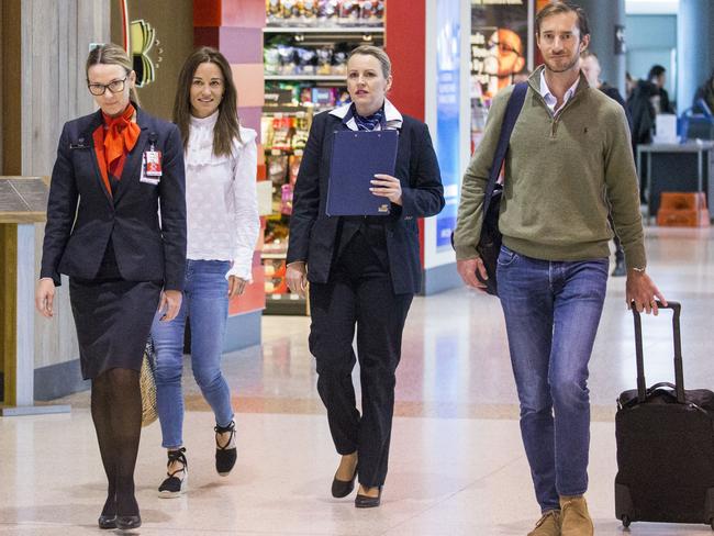
<path fill-rule="evenodd" d="M 540 510 L 588 489 L 588 362 L 607 259 L 538 260 L 501 248 L 497 277 L 521 402 L 521 435 Z"/>

